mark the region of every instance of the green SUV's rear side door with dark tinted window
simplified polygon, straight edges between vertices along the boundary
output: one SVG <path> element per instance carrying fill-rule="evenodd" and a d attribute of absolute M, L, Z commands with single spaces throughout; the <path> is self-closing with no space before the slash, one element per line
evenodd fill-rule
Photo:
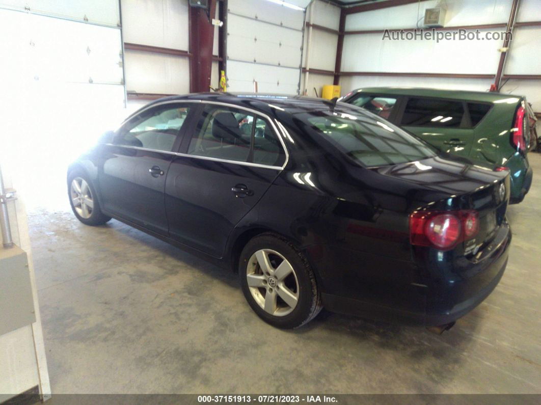
<path fill-rule="evenodd" d="M 397 124 L 441 151 L 467 157 L 476 141 L 467 103 L 443 98 L 408 97 Z"/>

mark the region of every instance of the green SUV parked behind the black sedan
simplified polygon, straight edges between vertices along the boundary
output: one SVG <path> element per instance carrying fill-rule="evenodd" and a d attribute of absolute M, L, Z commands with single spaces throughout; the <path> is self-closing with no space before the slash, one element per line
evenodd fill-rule
<path fill-rule="evenodd" d="M 442 152 L 511 177 L 511 203 L 530 189 L 530 128 L 523 96 L 496 92 L 374 87 L 340 99 L 399 125 Z"/>

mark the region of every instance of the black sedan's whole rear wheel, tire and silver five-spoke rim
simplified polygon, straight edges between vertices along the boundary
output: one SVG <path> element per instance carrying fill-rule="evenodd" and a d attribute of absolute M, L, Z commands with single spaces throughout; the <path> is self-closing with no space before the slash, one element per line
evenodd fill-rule
<path fill-rule="evenodd" d="M 242 250 L 239 275 L 246 300 L 263 321 L 291 329 L 321 310 L 321 296 L 308 260 L 293 243 L 262 234 Z"/>

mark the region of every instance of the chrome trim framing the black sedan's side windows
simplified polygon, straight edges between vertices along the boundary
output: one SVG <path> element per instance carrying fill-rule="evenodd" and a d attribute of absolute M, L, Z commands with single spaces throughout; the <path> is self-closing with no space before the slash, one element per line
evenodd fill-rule
<path fill-rule="evenodd" d="M 219 102 L 219 101 L 204 101 L 204 100 L 168 100 L 168 101 L 162 101 L 160 103 L 154 103 L 154 104 L 148 105 L 148 107 L 143 107 L 142 109 L 135 111 L 133 114 L 131 114 L 128 118 L 126 118 L 122 122 L 122 124 L 120 125 L 119 128 L 122 128 L 124 126 L 124 124 L 126 124 L 131 118 L 135 117 L 138 114 L 141 114 L 142 112 L 144 112 L 144 111 L 146 111 L 148 109 L 157 107 L 159 105 L 182 104 L 182 103 L 223 105 L 225 107 L 230 107 L 230 108 L 236 108 L 238 110 L 249 111 L 249 112 L 252 112 L 255 115 L 259 115 L 259 116 L 261 116 L 263 118 L 266 118 L 267 121 L 270 122 L 271 125 L 272 125 L 272 128 L 274 130 L 274 135 L 276 135 L 276 137 L 280 141 L 280 144 L 282 145 L 282 149 L 286 154 L 286 160 L 283 162 L 283 164 L 281 166 L 273 166 L 273 165 L 268 165 L 268 164 L 260 164 L 260 163 L 252 163 L 252 162 L 239 162 L 239 161 L 233 161 L 233 160 L 227 160 L 227 159 L 220 159 L 220 158 L 217 158 L 217 157 L 183 154 L 183 153 L 180 153 L 180 152 L 170 152 L 170 151 L 163 151 L 163 150 L 157 150 L 157 149 L 147 149 L 147 148 L 140 148 L 140 147 L 132 147 L 132 146 L 129 146 L 129 145 L 116 145 L 116 144 L 113 144 L 113 143 L 107 143 L 106 145 L 119 146 L 119 147 L 124 147 L 124 148 L 140 149 L 140 150 L 148 150 L 148 151 L 153 151 L 153 152 L 161 152 L 161 153 L 173 154 L 173 155 L 184 156 L 184 157 L 196 157 L 196 158 L 201 158 L 201 159 L 205 159 L 205 160 L 212 160 L 212 161 L 218 161 L 218 162 L 237 163 L 237 164 L 242 164 L 242 165 L 247 165 L 247 166 L 254 166 L 254 167 L 261 167 L 261 168 L 268 168 L 268 169 L 275 169 L 275 170 L 276 169 L 283 170 L 286 167 L 287 162 L 289 161 L 289 151 L 287 150 L 286 143 L 283 141 L 283 138 L 285 138 L 287 135 L 284 134 L 283 131 L 279 131 L 278 128 L 276 127 L 274 119 L 269 117 L 264 112 L 254 110 L 252 108 L 243 107 L 241 105 L 236 105 L 236 104 L 231 104 L 231 103 L 222 103 L 222 102 Z M 280 134 L 282 136 L 280 136 Z"/>

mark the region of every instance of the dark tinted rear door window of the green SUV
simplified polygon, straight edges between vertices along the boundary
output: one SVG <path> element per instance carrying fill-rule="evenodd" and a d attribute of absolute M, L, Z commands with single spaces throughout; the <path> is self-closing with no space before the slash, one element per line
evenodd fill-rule
<path fill-rule="evenodd" d="M 410 98 L 401 124 L 415 127 L 457 128 L 460 126 L 463 115 L 464 108 L 460 101 Z"/>

